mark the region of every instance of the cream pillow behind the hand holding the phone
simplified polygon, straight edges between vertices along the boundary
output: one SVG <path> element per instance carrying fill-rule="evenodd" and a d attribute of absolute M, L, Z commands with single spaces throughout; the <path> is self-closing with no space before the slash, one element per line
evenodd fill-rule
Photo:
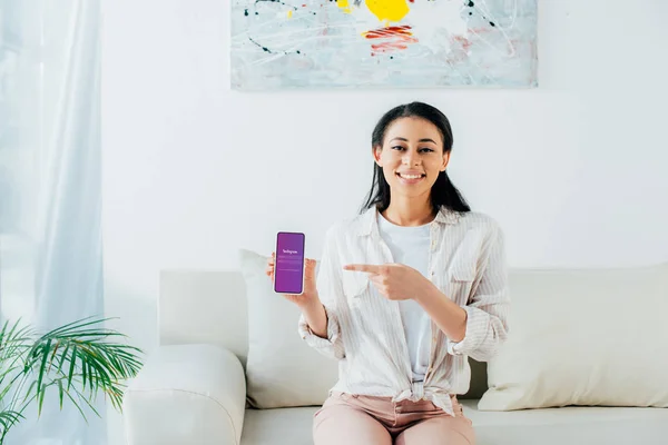
<path fill-rule="evenodd" d="M 336 383 L 337 363 L 306 345 L 299 309 L 275 294 L 267 257 L 239 250 L 248 300 L 247 398 L 256 408 L 322 405 Z"/>

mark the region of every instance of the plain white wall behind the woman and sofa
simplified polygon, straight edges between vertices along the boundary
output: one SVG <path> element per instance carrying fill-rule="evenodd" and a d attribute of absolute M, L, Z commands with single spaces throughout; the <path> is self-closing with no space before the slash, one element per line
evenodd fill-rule
<path fill-rule="evenodd" d="M 532 90 L 234 92 L 228 8 L 104 6 L 106 310 L 139 346 L 157 340 L 159 269 L 236 268 L 279 229 L 317 257 L 371 184 L 375 120 L 410 100 L 451 118 L 451 176 L 511 266 L 668 260 L 668 2 L 541 0 Z"/>

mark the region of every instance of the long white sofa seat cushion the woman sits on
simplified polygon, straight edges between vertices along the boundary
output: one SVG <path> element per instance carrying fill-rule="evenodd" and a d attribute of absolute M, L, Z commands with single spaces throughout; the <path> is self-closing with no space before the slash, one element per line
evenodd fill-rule
<path fill-rule="evenodd" d="M 462 400 L 477 445 L 664 445 L 668 409 L 567 407 L 481 412 Z M 312 445 L 317 408 L 247 409 L 240 445 Z"/>

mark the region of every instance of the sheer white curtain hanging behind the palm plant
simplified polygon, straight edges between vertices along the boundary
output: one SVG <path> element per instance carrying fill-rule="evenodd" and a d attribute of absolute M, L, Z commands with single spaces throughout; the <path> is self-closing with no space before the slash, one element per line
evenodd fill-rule
<path fill-rule="evenodd" d="M 104 314 L 99 3 L 0 0 L 0 313 L 41 332 Z M 7 443 L 105 444 L 85 413 L 55 390 Z"/>

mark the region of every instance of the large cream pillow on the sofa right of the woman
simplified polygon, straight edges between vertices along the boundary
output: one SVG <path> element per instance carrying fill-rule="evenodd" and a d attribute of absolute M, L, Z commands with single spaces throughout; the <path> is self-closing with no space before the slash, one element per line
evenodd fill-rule
<path fill-rule="evenodd" d="M 668 407 L 668 264 L 514 270 L 510 291 L 481 409 Z"/>

